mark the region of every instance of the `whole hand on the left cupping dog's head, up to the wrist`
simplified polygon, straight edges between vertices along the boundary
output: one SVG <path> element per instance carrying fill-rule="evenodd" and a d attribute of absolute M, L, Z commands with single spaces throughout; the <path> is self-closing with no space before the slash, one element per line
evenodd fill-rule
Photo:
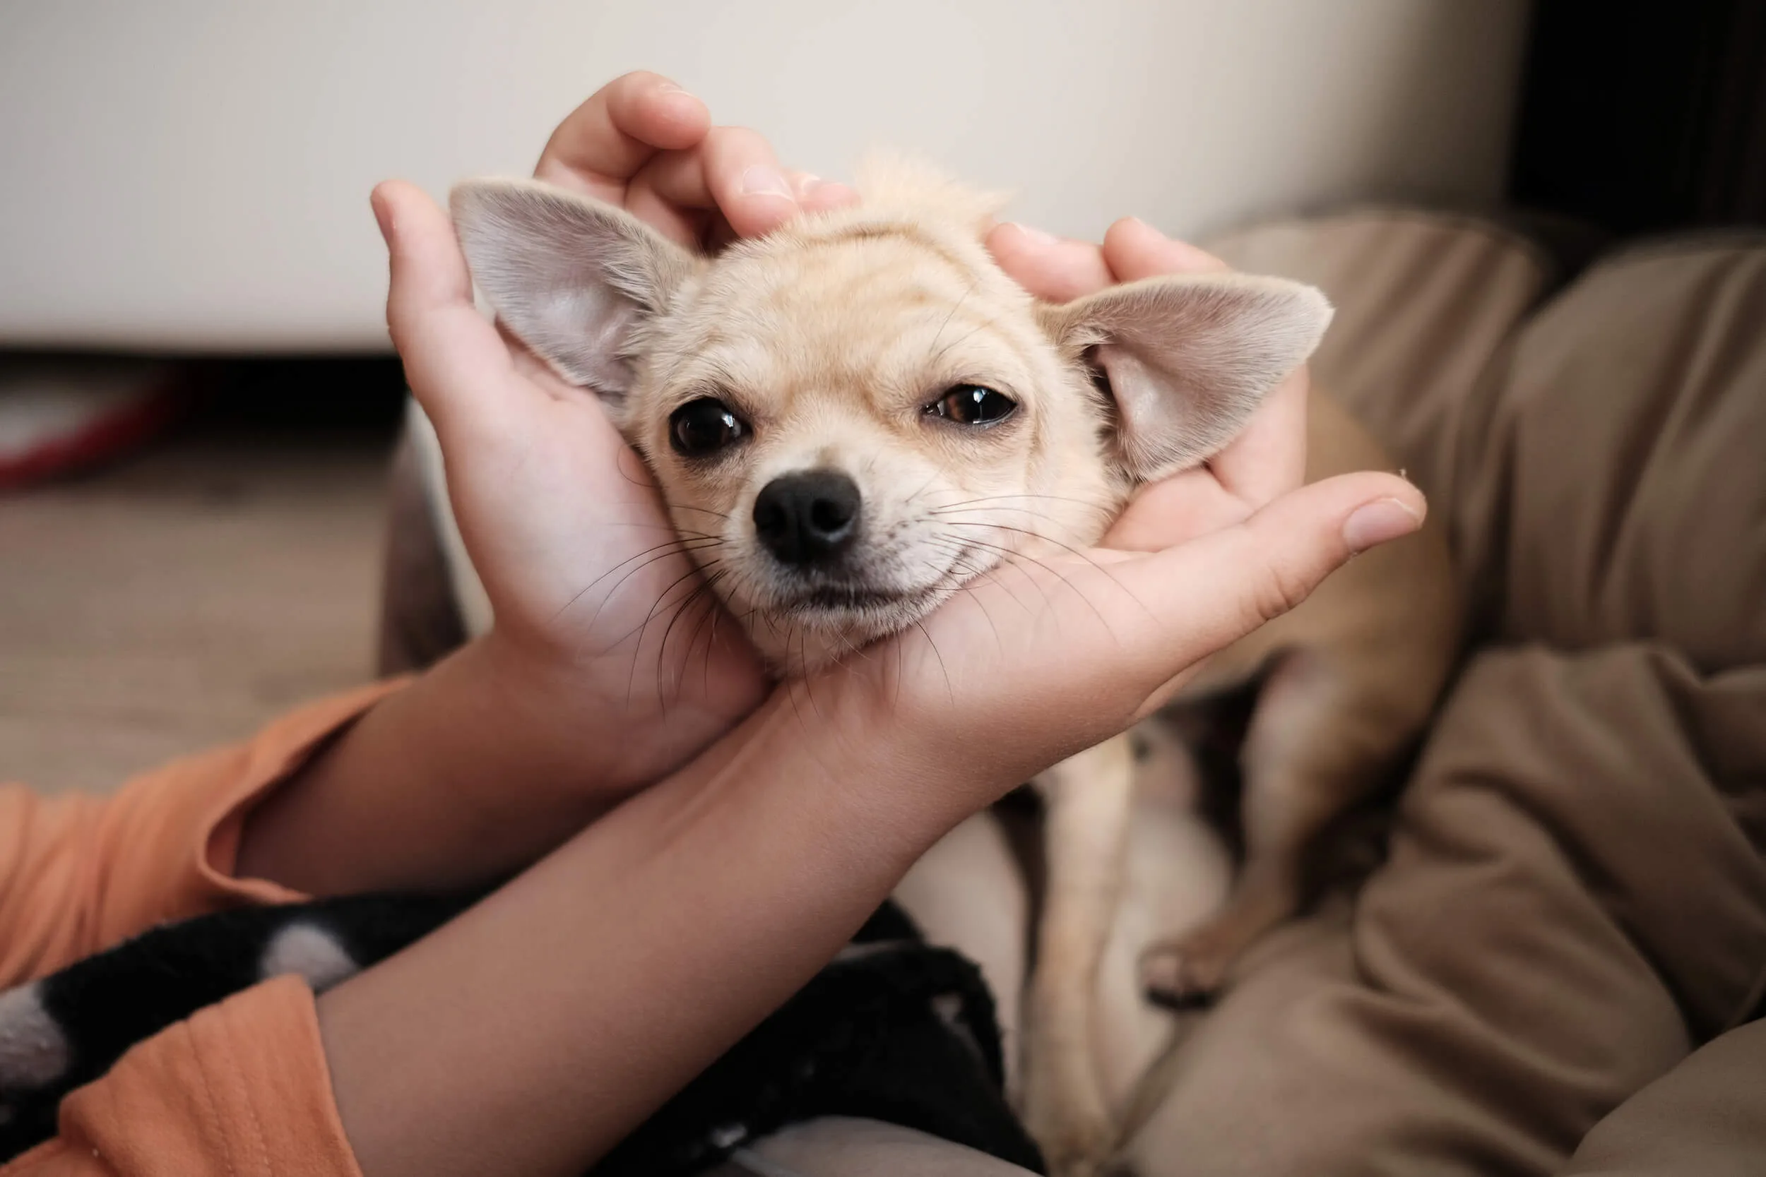
<path fill-rule="evenodd" d="M 572 111 L 535 175 L 706 249 L 857 199 L 782 169 L 752 131 L 712 127 L 699 99 L 646 72 Z M 710 602 L 676 609 L 696 572 L 648 471 L 593 394 L 479 314 L 447 215 L 399 182 L 373 205 L 392 261 L 387 323 L 442 443 L 503 681 L 579 716 L 602 746 L 595 783 L 653 780 L 759 702 L 759 662 Z"/>

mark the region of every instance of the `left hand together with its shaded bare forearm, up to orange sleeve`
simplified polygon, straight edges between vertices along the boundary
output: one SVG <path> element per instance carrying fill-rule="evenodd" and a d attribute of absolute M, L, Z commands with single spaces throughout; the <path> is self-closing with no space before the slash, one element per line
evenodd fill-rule
<path fill-rule="evenodd" d="M 687 244 L 763 233 L 857 199 L 782 173 L 655 74 L 602 86 L 537 173 Z M 782 176 L 782 178 L 781 178 Z M 442 439 L 449 496 L 494 625 L 381 701 L 253 810 L 235 868 L 313 893 L 472 886 L 558 845 L 691 759 L 765 693 L 735 625 L 664 642 L 657 602 L 694 568 L 593 395 L 473 307 L 447 215 L 374 191 L 392 256 L 387 323 Z M 668 656 L 664 656 L 668 653 Z"/>

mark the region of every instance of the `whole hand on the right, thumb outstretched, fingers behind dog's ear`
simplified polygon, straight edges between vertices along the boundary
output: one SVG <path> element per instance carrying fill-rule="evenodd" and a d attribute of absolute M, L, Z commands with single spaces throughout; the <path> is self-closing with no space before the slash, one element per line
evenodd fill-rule
<path fill-rule="evenodd" d="M 1226 265 L 1139 221 L 1104 245 L 998 226 L 989 249 L 1026 289 L 1065 302 L 1114 282 Z M 1189 671 L 1298 605 L 1358 551 L 1415 531 L 1422 494 L 1390 475 L 1302 489 L 1305 367 L 1197 469 L 1141 487 L 1086 552 L 1007 561 L 885 648 L 804 685 L 835 741 L 876 741 L 938 782 L 961 817 L 1164 704 Z M 839 759 L 842 750 L 828 755 Z"/>

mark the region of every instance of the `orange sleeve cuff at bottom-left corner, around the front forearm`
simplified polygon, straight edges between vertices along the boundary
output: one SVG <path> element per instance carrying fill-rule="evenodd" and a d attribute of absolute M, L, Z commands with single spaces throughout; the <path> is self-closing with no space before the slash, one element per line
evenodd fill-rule
<path fill-rule="evenodd" d="M 313 993 L 265 981 L 138 1045 L 0 1177 L 362 1177 Z"/>

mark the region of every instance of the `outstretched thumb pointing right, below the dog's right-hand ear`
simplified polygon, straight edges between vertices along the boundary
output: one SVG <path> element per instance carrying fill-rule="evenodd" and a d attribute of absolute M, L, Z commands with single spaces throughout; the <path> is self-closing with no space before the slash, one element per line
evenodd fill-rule
<path fill-rule="evenodd" d="M 1356 552 L 1416 531 L 1427 512 L 1404 478 L 1356 473 L 1272 499 L 1240 524 L 1114 565 L 1158 621 L 1160 674 L 1189 667 L 1279 618 Z"/>

